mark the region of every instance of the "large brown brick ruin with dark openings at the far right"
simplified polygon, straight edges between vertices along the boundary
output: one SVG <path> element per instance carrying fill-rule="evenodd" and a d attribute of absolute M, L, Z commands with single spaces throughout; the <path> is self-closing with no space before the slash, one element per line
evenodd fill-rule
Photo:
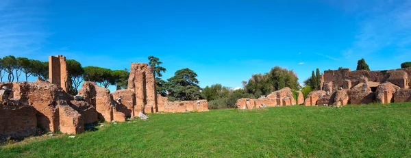
<path fill-rule="evenodd" d="M 397 70 L 326 70 L 320 90 L 308 94 L 304 105 L 402 103 L 411 101 L 411 68 Z"/>

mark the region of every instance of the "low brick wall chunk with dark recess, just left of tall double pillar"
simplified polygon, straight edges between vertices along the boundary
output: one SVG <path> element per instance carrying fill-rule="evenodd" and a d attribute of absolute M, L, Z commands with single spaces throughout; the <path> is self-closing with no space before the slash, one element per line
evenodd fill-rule
<path fill-rule="evenodd" d="M 126 117 L 136 116 L 134 111 L 134 106 L 136 106 L 136 94 L 134 94 L 133 90 L 117 90 L 112 93 L 112 96 L 114 101 L 117 101 L 121 97 L 121 100 L 117 101 L 117 111 L 125 114 Z"/>

